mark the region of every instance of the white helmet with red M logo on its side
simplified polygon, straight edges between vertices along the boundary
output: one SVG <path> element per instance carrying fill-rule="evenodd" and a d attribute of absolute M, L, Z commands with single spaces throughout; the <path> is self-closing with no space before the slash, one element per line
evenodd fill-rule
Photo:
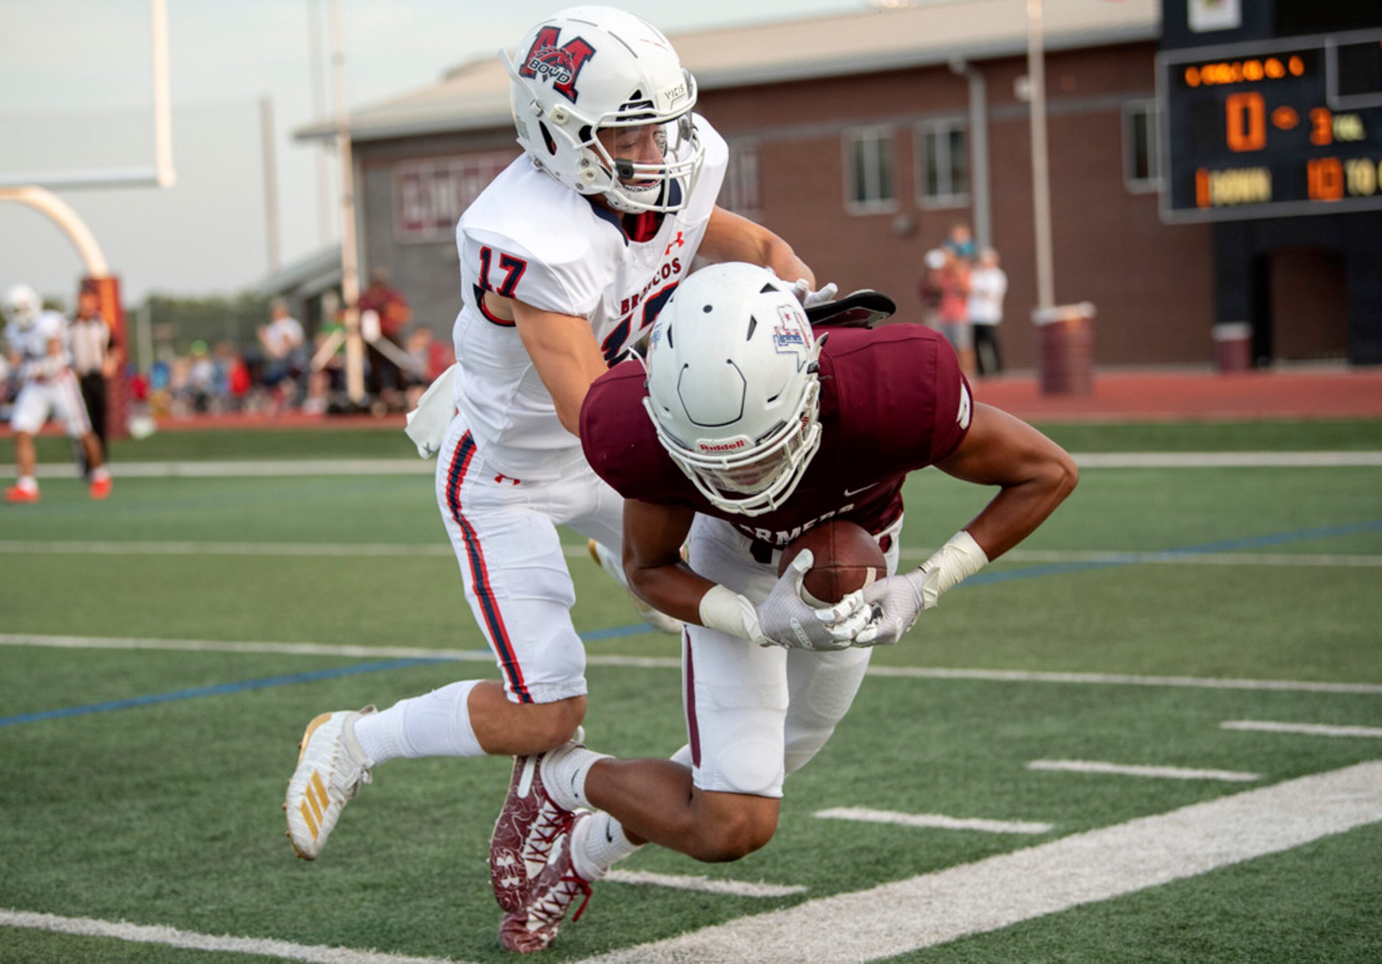
<path fill-rule="evenodd" d="M 705 156 L 691 120 L 697 87 L 661 30 L 612 7 L 571 7 L 532 28 L 504 64 L 518 142 L 538 167 L 615 210 L 685 207 Z M 648 124 L 661 127 L 661 163 L 616 158 L 597 137 Z"/>

